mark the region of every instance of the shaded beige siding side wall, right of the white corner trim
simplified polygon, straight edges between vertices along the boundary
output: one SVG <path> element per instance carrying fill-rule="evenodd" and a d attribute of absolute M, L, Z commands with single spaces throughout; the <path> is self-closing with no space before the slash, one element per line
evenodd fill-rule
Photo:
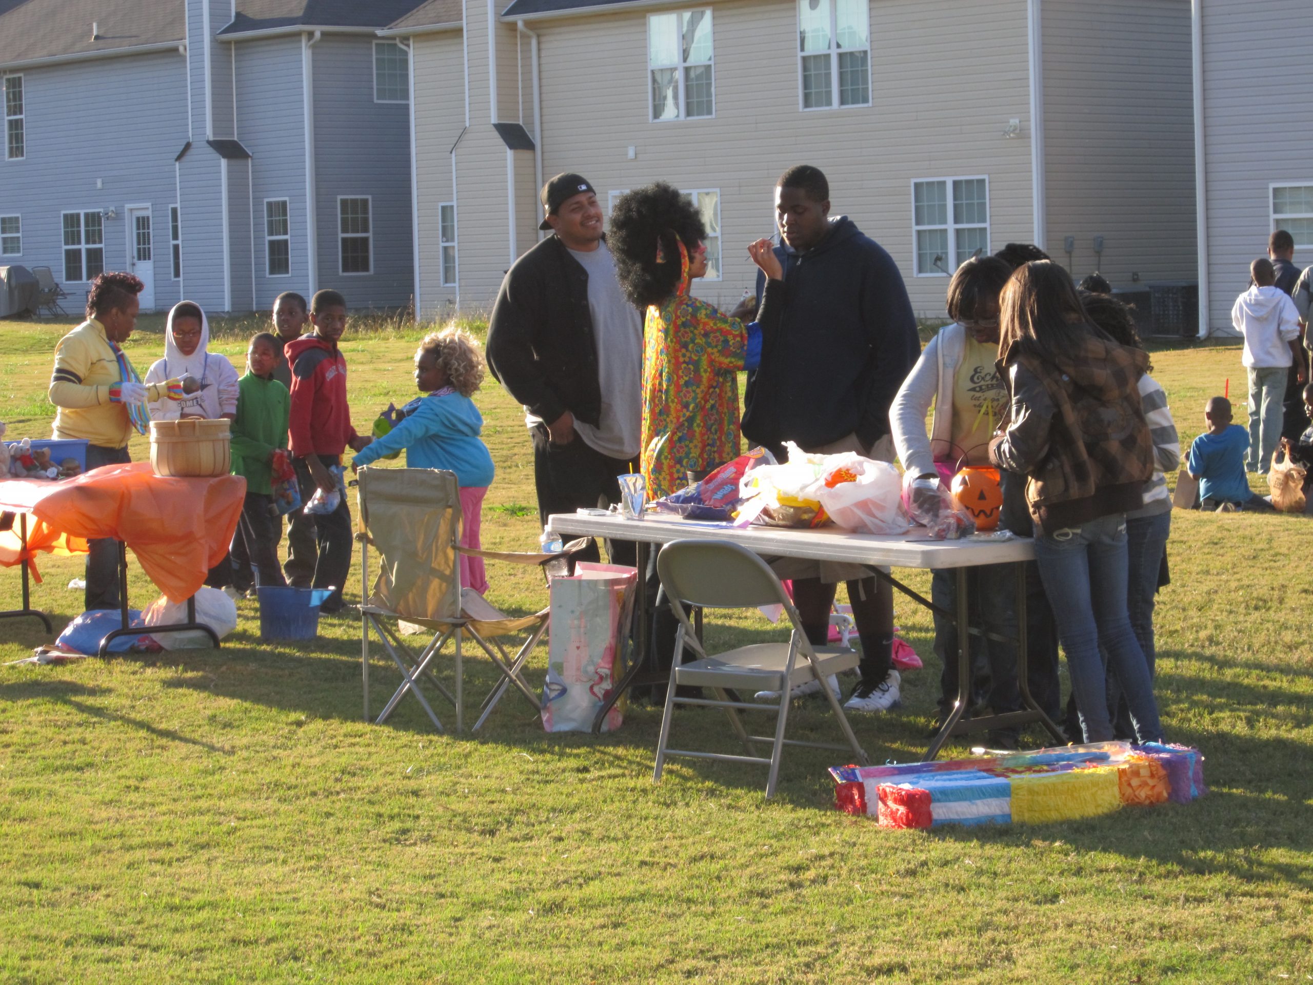
<path fill-rule="evenodd" d="M 1197 278 L 1188 0 L 1044 0 L 1048 252 L 1113 288 Z"/>

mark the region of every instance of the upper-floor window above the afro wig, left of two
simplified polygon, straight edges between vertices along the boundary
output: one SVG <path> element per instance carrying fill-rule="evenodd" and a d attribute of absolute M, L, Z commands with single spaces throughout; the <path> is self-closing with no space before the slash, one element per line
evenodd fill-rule
<path fill-rule="evenodd" d="M 712 12 L 651 14 L 647 18 L 647 72 L 653 83 L 653 120 L 716 116 Z"/>

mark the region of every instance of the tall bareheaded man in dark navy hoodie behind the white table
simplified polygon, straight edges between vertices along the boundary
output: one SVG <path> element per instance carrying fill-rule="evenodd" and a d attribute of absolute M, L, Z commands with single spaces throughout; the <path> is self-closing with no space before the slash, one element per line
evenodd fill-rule
<path fill-rule="evenodd" d="M 847 217 L 830 218 L 830 184 L 800 164 L 775 189 L 783 244 L 783 314 L 765 328 L 762 365 L 748 377 L 743 436 L 777 457 L 784 441 L 805 452 L 857 452 L 893 461 L 889 405 L 920 355 L 916 319 L 897 264 Z M 767 286 L 758 278 L 758 296 Z M 813 644 L 825 644 L 838 582 L 848 583 L 861 682 L 846 708 L 885 712 L 901 700 L 893 647 L 893 590 L 857 565 L 781 561 Z M 807 686 L 802 686 L 807 687 Z"/>

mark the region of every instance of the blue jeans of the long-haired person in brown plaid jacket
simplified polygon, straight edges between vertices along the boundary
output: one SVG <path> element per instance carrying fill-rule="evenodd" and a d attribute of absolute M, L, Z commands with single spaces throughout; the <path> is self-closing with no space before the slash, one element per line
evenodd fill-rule
<path fill-rule="evenodd" d="M 1071 692 L 1086 742 L 1112 738 L 1103 658 L 1121 684 L 1140 742 L 1162 738 L 1144 651 L 1127 612 L 1127 520 L 1102 516 L 1081 527 L 1040 533 L 1035 561 L 1066 650 Z"/>

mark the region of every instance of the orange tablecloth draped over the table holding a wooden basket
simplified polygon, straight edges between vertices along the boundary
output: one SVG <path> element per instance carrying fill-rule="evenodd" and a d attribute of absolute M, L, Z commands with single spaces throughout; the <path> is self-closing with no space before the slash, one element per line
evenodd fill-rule
<path fill-rule="evenodd" d="M 62 482 L 0 481 L 0 511 L 29 514 L 28 554 L 18 521 L 0 535 L 0 565 L 33 554 L 71 554 L 87 541 L 113 537 L 127 544 L 142 569 L 172 602 L 185 602 L 223 559 L 246 498 L 246 479 L 165 479 L 150 462 L 106 465 Z M 38 579 L 39 580 L 39 579 Z"/>

